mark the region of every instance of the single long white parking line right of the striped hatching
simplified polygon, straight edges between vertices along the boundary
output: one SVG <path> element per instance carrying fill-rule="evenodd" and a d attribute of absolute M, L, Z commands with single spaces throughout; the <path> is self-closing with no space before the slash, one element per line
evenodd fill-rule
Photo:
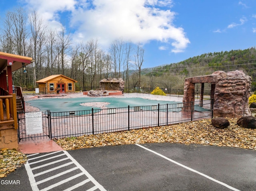
<path fill-rule="evenodd" d="M 185 165 L 183 165 L 183 164 L 181 164 L 181 163 L 178 163 L 178 162 L 176 162 L 176 161 L 174 161 L 174 160 L 172 160 L 172 159 L 170 159 L 170 158 L 167 158 L 166 156 L 163 156 L 163 155 L 161 155 L 161 154 L 159 154 L 159 153 L 157 153 L 157 152 L 155 152 L 155 151 L 153 151 L 153 150 L 150 150 L 150 149 L 148 149 L 148 148 L 146 148 L 146 147 L 144 147 L 144 146 L 141 146 L 141 145 L 139 145 L 139 144 L 135 144 L 135 145 L 137 145 L 137 146 L 139 146 L 139 147 L 141 147 L 141 148 L 143 148 L 143 149 L 145 149 L 145 150 L 147 150 L 147 151 L 150 151 L 150 152 L 152 152 L 152 153 L 154 153 L 154 154 L 156 154 L 156 155 L 158 155 L 158 156 L 160 156 L 160 157 L 162 157 L 162 158 L 164 158 L 164 159 L 166 159 L 166 160 L 168 160 L 168 161 L 171 161 L 172 163 L 175 163 L 175 164 L 177 164 L 177 165 L 179 165 L 179 166 L 181 166 L 181 167 L 184 167 L 184 168 L 186 168 L 186 169 L 188 169 L 188 170 L 190 170 L 190 171 L 192 171 L 192 172 L 198 173 L 199 175 L 202 175 L 203 177 L 206 177 L 206 178 L 208 178 L 208 179 L 210 179 L 210 180 L 212 180 L 212 181 L 214 181 L 214 182 L 216 182 L 216 183 L 219 183 L 219 184 L 221 184 L 221 185 L 223 185 L 223 186 L 225 186 L 225 187 L 227 187 L 227 188 L 229 188 L 229 189 L 231 189 L 231 190 L 240 191 L 240 190 L 238 190 L 238 189 L 236 189 L 236 188 L 234 188 L 234 187 L 232 187 L 232 186 L 230 186 L 230 185 L 227 185 L 226 183 L 223 183 L 223 182 L 221 182 L 221 181 L 218 181 L 218 180 L 216 180 L 216 179 L 214 179 L 214 178 L 212 178 L 212 177 L 210 177 L 210 176 L 208 176 L 208 175 L 206 175 L 206 174 L 204 174 L 204 173 L 200 173 L 199 171 L 196 171 L 196 170 L 194 170 L 194 169 L 192 169 L 192 168 L 190 168 L 190 167 L 187 167 L 187 166 L 185 166 Z"/>

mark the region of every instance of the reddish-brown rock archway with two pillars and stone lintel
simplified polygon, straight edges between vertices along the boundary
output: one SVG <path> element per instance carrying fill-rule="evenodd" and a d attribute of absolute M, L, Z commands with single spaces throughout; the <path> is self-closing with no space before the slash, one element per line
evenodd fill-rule
<path fill-rule="evenodd" d="M 216 71 L 212 75 L 186 78 L 184 83 L 183 114 L 193 116 L 191 102 L 195 99 L 195 84 L 211 83 L 211 98 L 214 99 L 213 117 L 239 118 L 251 116 L 248 108 L 252 78 L 243 71 Z M 202 95 L 202 93 L 201 93 Z"/>

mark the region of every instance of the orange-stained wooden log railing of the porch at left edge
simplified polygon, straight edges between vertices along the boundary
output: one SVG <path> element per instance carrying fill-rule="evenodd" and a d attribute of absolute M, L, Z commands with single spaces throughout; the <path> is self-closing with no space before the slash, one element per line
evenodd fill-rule
<path fill-rule="evenodd" d="M 14 124 L 18 129 L 16 94 L 0 96 L 0 126 Z"/>

